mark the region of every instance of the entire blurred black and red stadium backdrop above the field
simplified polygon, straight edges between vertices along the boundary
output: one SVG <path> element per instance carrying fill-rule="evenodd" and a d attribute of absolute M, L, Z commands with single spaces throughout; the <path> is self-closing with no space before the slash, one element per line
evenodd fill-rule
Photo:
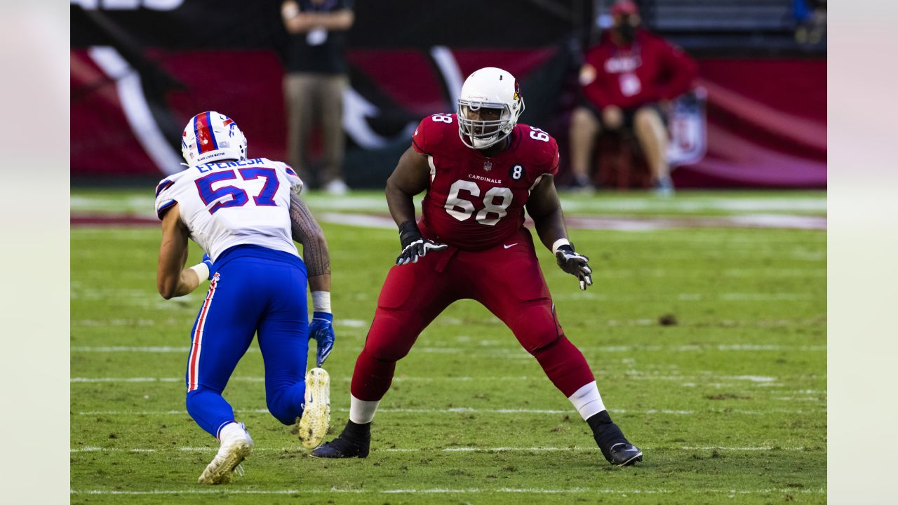
<path fill-rule="evenodd" d="M 611 3 L 356 2 L 348 60 L 351 87 L 365 105 L 347 104 L 352 111 L 349 185 L 383 187 L 408 146 L 409 128 L 427 114 L 453 111 L 441 58 L 453 61 L 462 78 L 480 66 L 501 66 L 515 74 L 527 104 L 522 120 L 556 137 L 565 162 L 577 68 L 585 47 L 600 34 L 597 16 L 607 13 Z M 163 170 L 178 170 L 181 128 L 205 110 L 237 120 L 251 155 L 282 159 L 286 32 L 279 4 L 186 0 L 174 10 L 159 11 L 85 10 L 73 3 L 73 185 L 153 184 Z M 678 188 L 825 188 L 825 37 L 813 44 L 797 42 L 797 2 L 638 4 L 649 30 L 698 60 L 696 86 L 707 93 L 702 104 L 707 144 L 700 159 L 674 170 Z M 119 65 L 99 65 L 98 50 L 107 65 L 109 58 Z M 128 101 L 134 102 L 135 89 L 146 109 L 146 120 L 137 128 L 125 111 L 133 106 Z M 129 98 L 123 97 L 127 93 Z M 135 130 L 148 125 L 161 134 L 170 153 L 157 148 L 151 156 L 148 151 L 154 149 L 138 142 Z M 563 164 L 562 183 L 566 168 Z"/>

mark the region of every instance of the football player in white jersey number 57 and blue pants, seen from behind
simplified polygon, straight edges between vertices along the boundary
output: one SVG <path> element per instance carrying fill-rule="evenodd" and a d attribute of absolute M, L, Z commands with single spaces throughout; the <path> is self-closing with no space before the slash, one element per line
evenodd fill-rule
<path fill-rule="evenodd" d="M 328 429 L 330 378 L 321 364 L 334 342 L 330 255 L 321 226 L 299 199 L 303 182 L 286 164 L 248 159 L 246 137 L 231 118 L 215 111 L 194 116 L 181 150 L 188 168 L 156 187 L 163 229 L 156 282 L 168 299 L 210 279 L 190 333 L 187 410 L 221 442 L 199 483 L 227 483 L 242 472 L 253 442 L 222 391 L 253 334 L 265 360 L 269 412 L 284 424 L 298 423 L 305 447 L 317 446 Z M 185 269 L 188 239 L 207 254 Z M 305 261 L 294 240 L 303 244 Z M 311 338 L 317 368 L 306 375 Z"/>

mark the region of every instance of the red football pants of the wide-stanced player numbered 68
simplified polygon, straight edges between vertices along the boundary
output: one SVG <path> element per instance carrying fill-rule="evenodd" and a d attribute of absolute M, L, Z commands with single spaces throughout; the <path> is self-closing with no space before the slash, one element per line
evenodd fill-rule
<path fill-rule="evenodd" d="M 565 396 L 595 380 L 583 353 L 561 330 L 533 238 L 522 228 L 490 249 L 449 247 L 392 267 L 356 360 L 353 396 L 368 402 L 383 398 L 396 361 L 409 353 L 427 324 L 462 298 L 477 300 L 506 323 Z"/>

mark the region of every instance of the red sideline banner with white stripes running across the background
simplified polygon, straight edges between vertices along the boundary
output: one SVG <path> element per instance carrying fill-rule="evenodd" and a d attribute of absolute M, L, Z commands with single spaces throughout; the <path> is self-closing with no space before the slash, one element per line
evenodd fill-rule
<path fill-rule="evenodd" d="M 284 156 L 283 70 L 273 52 L 146 54 L 155 67 L 141 73 L 116 49 L 72 50 L 73 176 L 180 170 L 180 129 L 205 110 L 225 111 L 238 120 L 251 153 Z M 565 109 L 571 101 L 565 93 L 571 92 L 565 89 L 570 61 L 563 49 L 360 49 L 350 51 L 348 59 L 352 86 L 343 123 L 353 185 L 383 183 L 418 120 L 452 111 L 450 97 L 463 75 L 487 65 L 519 76 L 527 100 L 522 120 L 557 137 L 566 157 Z M 235 60 L 241 62 L 237 73 Z M 674 108 L 670 121 L 672 161 L 682 165 L 674 171 L 678 187 L 826 186 L 824 60 L 699 63 L 707 126 L 697 119 L 700 111 L 688 107 Z M 164 89 L 159 75 L 174 84 Z"/>

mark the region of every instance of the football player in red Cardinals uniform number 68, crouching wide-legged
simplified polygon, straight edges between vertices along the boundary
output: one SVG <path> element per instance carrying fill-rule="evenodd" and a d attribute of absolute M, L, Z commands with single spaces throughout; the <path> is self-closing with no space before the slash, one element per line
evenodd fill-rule
<path fill-rule="evenodd" d="M 515 77 L 481 68 L 462 85 L 458 114 L 436 114 L 418 125 L 412 145 L 387 181 L 390 213 L 402 253 L 377 301 L 374 322 L 352 377 L 349 421 L 339 438 L 313 450 L 318 457 L 365 457 L 377 404 L 396 361 L 418 334 L 455 300 L 486 306 L 537 359 L 593 430 L 613 465 L 632 465 L 642 451 L 624 438 L 605 409 L 583 354 L 562 331 L 542 277 L 524 208 L 543 245 L 585 289 L 588 258 L 568 241 L 552 177 L 555 140 L 518 124 L 524 111 Z M 427 191 L 415 222 L 412 197 Z"/>

